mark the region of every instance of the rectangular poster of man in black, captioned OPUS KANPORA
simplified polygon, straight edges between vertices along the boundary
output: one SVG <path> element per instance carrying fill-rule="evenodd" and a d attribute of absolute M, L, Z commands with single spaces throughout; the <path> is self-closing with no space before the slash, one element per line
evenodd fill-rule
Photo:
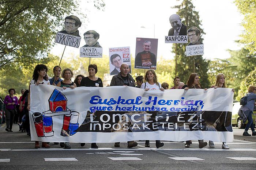
<path fill-rule="evenodd" d="M 136 38 L 135 69 L 157 69 L 158 39 Z"/>

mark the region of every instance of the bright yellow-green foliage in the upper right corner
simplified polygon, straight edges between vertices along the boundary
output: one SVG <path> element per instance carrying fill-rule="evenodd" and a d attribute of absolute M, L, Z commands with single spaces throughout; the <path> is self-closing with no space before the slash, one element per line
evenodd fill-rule
<path fill-rule="evenodd" d="M 245 44 L 245 49 L 249 54 L 256 54 L 256 1 L 255 0 L 235 0 L 237 8 L 244 15 L 242 26 L 244 32 L 240 42 Z"/>

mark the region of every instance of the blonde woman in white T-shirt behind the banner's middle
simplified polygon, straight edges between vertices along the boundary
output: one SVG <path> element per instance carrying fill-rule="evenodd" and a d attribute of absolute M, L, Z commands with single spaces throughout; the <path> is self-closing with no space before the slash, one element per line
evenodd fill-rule
<path fill-rule="evenodd" d="M 144 83 L 140 87 L 141 89 L 145 89 L 145 91 L 148 90 L 161 90 L 164 91 L 161 84 L 157 81 L 157 75 L 155 74 L 155 71 L 152 69 L 147 70 L 144 77 Z M 156 112 L 157 113 L 157 112 Z M 152 112 L 151 117 L 155 117 L 155 112 Z M 155 140 L 155 146 L 157 148 L 162 147 L 163 143 L 161 143 L 160 140 Z M 145 141 L 145 147 L 149 147 L 149 140 Z"/>

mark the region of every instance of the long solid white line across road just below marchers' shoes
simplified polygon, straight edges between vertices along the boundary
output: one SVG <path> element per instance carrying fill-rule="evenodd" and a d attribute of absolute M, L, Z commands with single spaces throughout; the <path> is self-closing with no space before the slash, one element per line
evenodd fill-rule
<path fill-rule="evenodd" d="M 0 151 L 92 151 L 95 149 L 79 148 L 79 149 L 64 149 L 64 148 L 39 148 L 39 149 L 0 149 Z M 111 151 L 256 151 L 250 148 L 230 148 L 230 149 L 208 149 L 208 148 L 174 148 L 174 149 L 161 149 L 161 148 L 98 148 L 99 150 Z"/>

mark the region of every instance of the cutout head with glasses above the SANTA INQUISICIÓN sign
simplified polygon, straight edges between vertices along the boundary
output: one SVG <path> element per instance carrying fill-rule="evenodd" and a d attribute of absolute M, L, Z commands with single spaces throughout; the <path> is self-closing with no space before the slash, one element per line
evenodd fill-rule
<path fill-rule="evenodd" d="M 84 32 L 83 36 L 86 43 L 84 47 L 101 47 L 97 42 L 97 40 L 99 39 L 99 34 L 96 31 L 90 30 Z"/>

